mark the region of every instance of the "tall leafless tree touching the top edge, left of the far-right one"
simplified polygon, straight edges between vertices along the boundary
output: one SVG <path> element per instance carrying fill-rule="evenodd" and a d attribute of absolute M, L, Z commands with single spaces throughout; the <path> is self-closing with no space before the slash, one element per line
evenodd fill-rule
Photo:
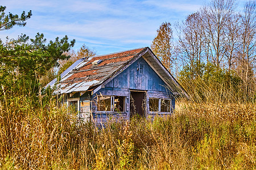
<path fill-rule="evenodd" d="M 220 67 L 226 52 L 226 29 L 234 14 L 234 0 L 213 0 L 201 9 L 204 23 L 205 41 L 209 44 L 209 54 L 213 63 Z"/>

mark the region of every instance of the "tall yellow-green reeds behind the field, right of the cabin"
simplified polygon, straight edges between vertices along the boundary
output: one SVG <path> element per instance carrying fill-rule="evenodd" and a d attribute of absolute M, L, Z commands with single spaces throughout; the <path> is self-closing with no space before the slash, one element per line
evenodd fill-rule
<path fill-rule="evenodd" d="M 222 71 L 223 72 L 223 71 Z M 212 75 L 213 74 L 213 75 Z M 190 101 L 195 103 L 255 103 L 255 80 L 243 82 L 230 72 L 213 72 L 196 78 L 182 78 L 181 85 L 187 91 Z"/>

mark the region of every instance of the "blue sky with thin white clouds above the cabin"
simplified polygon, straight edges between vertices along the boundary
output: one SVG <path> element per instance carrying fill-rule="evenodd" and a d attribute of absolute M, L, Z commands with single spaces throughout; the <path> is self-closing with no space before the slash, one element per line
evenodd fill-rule
<path fill-rule="evenodd" d="M 199 0 L 0 2 L 6 6 L 6 13 L 20 15 L 32 10 L 26 27 L 1 31 L 0 39 L 16 38 L 20 33 L 31 38 L 37 32 L 44 33 L 47 40 L 67 35 L 76 40 L 75 50 L 85 44 L 99 55 L 150 46 L 161 23 L 180 22 L 207 3 Z"/>

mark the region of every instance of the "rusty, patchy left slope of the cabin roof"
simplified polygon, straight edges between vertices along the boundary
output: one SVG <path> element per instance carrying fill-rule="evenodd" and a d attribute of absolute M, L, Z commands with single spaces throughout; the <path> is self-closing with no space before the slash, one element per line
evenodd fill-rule
<path fill-rule="evenodd" d="M 86 91 L 90 87 L 97 86 L 114 75 L 144 50 L 146 48 L 94 56 L 88 59 L 81 58 L 79 63 L 76 63 L 75 66 L 72 65 L 72 69 L 66 70 L 65 75 L 61 76 L 60 82 L 57 83 L 57 90 L 53 94 Z M 56 83 L 56 79 L 47 84 L 47 86 L 51 86 L 54 83 Z"/>

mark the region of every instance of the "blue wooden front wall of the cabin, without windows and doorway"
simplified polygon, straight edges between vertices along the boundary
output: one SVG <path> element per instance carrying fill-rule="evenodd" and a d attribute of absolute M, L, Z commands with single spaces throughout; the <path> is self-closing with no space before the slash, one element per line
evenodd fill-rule
<path fill-rule="evenodd" d="M 141 71 L 143 69 L 143 71 Z M 155 99 L 171 99 L 171 108 L 175 107 L 175 99 L 172 92 L 167 89 L 166 83 L 158 74 L 148 65 L 141 57 L 133 64 L 127 67 L 122 73 L 115 76 L 109 83 L 101 88 L 92 96 L 92 114 L 93 119 L 97 123 L 105 122 L 111 118 L 130 118 L 130 94 L 131 91 L 141 91 L 145 93 L 146 99 L 146 117 L 154 117 L 156 114 L 170 114 L 161 112 L 150 112 L 150 98 Z M 125 111 L 98 111 L 98 96 L 123 96 L 125 97 Z"/>

